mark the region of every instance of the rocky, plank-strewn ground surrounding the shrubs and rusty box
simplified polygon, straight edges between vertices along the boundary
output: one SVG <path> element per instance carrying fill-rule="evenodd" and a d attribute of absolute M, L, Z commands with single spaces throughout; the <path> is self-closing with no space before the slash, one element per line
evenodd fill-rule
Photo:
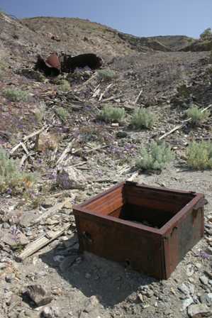
<path fill-rule="evenodd" d="M 32 28 L 5 16 L 0 22 L 0 144 L 21 170 L 37 175 L 33 185 L 1 193 L 0 317 L 212 317 L 212 172 L 186 166 L 189 142 L 211 139 L 211 116 L 205 124 L 187 123 L 164 138 L 175 153 L 166 170 L 135 173 L 140 148 L 181 124 L 189 105 L 211 104 L 209 53 L 137 52 L 126 46 L 121 54 L 123 43 L 115 41 L 103 66 L 115 72 L 111 82 L 90 70 L 45 78 L 32 70 L 42 48 L 50 53 L 45 38 L 36 33 L 33 47 Z M 61 49 L 60 42 L 52 43 Z M 86 51 L 83 43 L 74 53 Z M 65 78 L 70 88 L 62 92 Z M 28 99 L 9 100 L 8 88 L 26 91 Z M 104 105 L 123 107 L 124 123 L 97 120 Z M 134 131 L 129 125 L 140 106 L 157 116 L 151 130 Z M 72 189 L 61 177 L 63 168 L 75 176 L 69 180 Z M 168 280 L 79 254 L 72 204 L 132 175 L 147 185 L 202 192 L 208 200 L 205 236 Z M 40 248 L 22 257 L 36 240 Z"/>

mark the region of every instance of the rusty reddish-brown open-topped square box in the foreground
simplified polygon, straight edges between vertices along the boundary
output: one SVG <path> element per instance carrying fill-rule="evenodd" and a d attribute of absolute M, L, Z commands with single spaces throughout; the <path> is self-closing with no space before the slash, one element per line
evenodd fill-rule
<path fill-rule="evenodd" d="M 80 251 L 167 279 L 204 231 L 204 195 L 122 182 L 74 206 Z"/>

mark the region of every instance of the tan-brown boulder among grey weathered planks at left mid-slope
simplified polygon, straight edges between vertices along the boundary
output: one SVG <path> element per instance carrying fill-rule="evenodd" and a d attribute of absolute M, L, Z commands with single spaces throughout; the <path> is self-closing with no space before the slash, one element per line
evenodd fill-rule
<path fill-rule="evenodd" d="M 46 152 L 55 150 L 58 146 L 58 138 L 53 133 L 39 133 L 35 140 L 35 150 Z"/>

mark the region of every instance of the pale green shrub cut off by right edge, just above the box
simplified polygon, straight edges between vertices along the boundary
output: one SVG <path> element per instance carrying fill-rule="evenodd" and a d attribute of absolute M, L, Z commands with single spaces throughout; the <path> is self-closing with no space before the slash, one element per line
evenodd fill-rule
<path fill-rule="evenodd" d="M 212 168 L 212 143 L 196 141 L 189 144 L 187 151 L 187 164 L 196 170 Z"/>

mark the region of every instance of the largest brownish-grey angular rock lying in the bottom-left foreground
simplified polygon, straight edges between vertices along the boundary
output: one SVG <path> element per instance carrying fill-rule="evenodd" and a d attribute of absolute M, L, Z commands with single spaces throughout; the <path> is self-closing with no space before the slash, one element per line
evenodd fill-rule
<path fill-rule="evenodd" d="M 50 292 L 45 290 L 41 285 L 29 285 L 26 294 L 38 307 L 47 305 L 52 301 Z"/>

